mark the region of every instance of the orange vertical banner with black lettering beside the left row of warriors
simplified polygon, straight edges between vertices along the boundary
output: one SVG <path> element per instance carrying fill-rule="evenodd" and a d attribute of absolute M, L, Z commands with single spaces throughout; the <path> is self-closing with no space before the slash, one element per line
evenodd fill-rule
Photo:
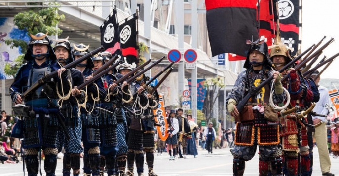
<path fill-rule="evenodd" d="M 159 94 L 159 104 L 158 108 L 154 110 L 154 114 L 158 115 L 158 117 L 154 118 L 155 122 L 160 124 L 161 126 L 156 126 L 156 130 L 158 131 L 159 137 L 162 141 L 166 141 L 168 137 L 167 133 L 167 120 L 166 120 L 166 111 L 165 104 L 162 94 Z"/>

